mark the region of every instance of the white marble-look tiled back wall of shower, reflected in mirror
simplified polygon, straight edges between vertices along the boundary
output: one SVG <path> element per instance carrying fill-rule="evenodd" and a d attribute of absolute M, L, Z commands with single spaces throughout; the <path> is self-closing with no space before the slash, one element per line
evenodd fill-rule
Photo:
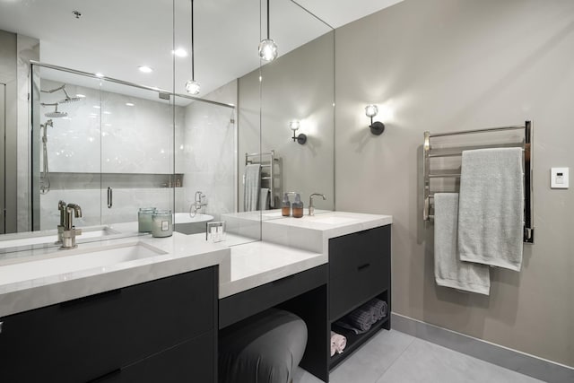
<path fill-rule="evenodd" d="M 40 230 L 56 228 L 60 199 L 82 206 L 83 218 L 75 221 L 78 227 L 136 221 L 137 209 L 143 205 L 163 209 L 173 205 L 174 189 L 149 177 L 173 172 L 173 107 L 166 101 L 100 91 L 98 83 L 94 80 L 95 89 L 66 84 L 72 97 L 78 93 L 86 97 L 61 104 L 58 109 L 68 116 L 52 118 L 54 126 L 48 127 L 48 164 L 55 180 L 54 187 L 40 195 Z M 45 90 L 60 85 L 45 79 L 41 82 Z M 62 92 L 42 93 L 41 100 L 56 102 L 62 96 Z M 175 109 L 175 140 L 181 143 L 186 109 Z M 48 120 L 44 113 L 51 110 L 53 107 L 40 111 L 42 124 Z M 176 155 L 176 161 L 183 161 L 183 157 Z M 176 167 L 180 169 L 182 164 Z M 63 185 L 57 182 L 58 173 L 80 174 L 67 177 Z M 124 185 L 114 187 L 106 174 L 122 174 Z M 107 205 L 108 186 L 114 187 L 112 208 Z M 182 191 L 178 189 L 175 196 L 180 200 Z"/>

